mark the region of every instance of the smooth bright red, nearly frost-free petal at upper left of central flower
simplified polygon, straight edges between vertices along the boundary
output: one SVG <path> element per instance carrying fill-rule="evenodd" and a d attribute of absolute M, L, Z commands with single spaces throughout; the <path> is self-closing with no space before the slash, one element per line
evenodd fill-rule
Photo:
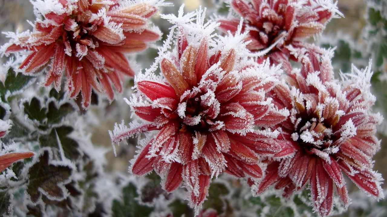
<path fill-rule="evenodd" d="M 175 90 L 169 85 L 154 81 L 139 81 L 137 87 L 152 101 L 163 97 L 176 98 Z"/>

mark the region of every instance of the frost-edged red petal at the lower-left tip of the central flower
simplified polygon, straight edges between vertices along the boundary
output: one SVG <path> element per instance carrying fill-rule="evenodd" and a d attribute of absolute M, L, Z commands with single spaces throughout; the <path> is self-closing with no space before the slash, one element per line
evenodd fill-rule
<path fill-rule="evenodd" d="M 141 153 L 137 156 L 133 166 L 132 173 L 136 175 L 144 175 L 149 171 L 153 170 L 153 164 L 156 157 L 147 158 L 146 156 L 149 153 L 149 149 L 151 147 L 152 141 L 150 141 L 144 149 L 142 149 Z"/>

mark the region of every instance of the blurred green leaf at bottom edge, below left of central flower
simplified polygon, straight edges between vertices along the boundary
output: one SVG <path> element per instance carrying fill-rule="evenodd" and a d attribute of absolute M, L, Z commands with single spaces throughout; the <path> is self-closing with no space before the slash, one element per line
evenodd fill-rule
<path fill-rule="evenodd" d="M 138 202 L 137 188 L 133 183 L 129 183 L 122 189 L 122 202 L 113 201 L 113 217 L 147 217 L 154 210 L 152 207 L 140 205 Z"/>

